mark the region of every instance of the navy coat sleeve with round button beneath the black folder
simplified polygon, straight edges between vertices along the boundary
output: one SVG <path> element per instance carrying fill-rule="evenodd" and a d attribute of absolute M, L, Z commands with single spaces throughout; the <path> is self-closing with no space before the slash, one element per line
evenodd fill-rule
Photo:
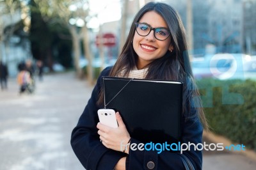
<path fill-rule="evenodd" d="M 181 143 L 202 143 L 202 124 L 194 116 L 194 118 L 188 118 L 186 121 L 183 120 L 183 132 Z M 131 144 L 139 144 L 140 141 L 131 139 Z M 199 148 L 202 148 L 201 146 Z M 202 151 L 195 150 L 195 147 L 191 145 L 190 150 L 183 151 L 182 154 L 186 155 L 191 160 L 195 169 L 202 169 Z M 140 150 L 129 150 L 129 155 L 126 159 L 126 169 L 185 169 L 180 159 L 180 151 L 170 152 L 162 151 L 140 151 Z"/>

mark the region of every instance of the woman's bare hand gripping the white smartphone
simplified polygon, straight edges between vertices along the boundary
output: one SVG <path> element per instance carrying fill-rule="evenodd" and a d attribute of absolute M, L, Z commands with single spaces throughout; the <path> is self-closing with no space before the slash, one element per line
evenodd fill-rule
<path fill-rule="evenodd" d="M 116 120 L 118 123 L 118 128 L 111 128 L 101 123 L 97 124 L 98 134 L 100 135 L 100 140 L 102 144 L 111 150 L 124 151 L 125 146 L 131 139 L 119 112 L 116 112 Z M 129 153 L 129 146 L 125 150 L 125 153 Z"/>

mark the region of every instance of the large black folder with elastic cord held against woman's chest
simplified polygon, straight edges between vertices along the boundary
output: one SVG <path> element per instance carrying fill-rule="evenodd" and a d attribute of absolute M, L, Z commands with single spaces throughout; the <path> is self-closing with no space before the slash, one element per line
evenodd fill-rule
<path fill-rule="evenodd" d="M 182 82 L 102 77 L 106 108 L 119 111 L 142 143 L 180 141 Z"/>

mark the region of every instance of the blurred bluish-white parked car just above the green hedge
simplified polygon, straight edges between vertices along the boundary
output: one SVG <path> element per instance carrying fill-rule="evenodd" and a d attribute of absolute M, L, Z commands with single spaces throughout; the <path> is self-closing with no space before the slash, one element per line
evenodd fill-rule
<path fill-rule="evenodd" d="M 193 58 L 191 66 L 196 79 L 244 79 L 252 65 L 252 57 L 246 54 L 212 54 Z"/>

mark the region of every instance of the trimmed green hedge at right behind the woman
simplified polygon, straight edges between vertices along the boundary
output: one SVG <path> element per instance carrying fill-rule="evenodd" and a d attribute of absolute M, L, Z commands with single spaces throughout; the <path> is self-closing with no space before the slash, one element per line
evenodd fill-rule
<path fill-rule="evenodd" d="M 256 82 L 197 81 L 210 130 L 256 151 Z"/>

